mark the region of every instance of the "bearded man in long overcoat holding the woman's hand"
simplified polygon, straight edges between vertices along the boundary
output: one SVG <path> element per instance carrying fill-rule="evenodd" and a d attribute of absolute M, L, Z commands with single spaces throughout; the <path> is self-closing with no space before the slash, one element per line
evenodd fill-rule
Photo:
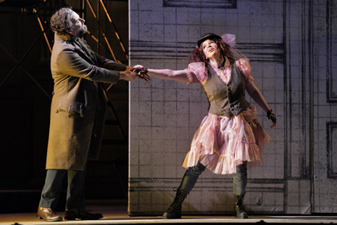
<path fill-rule="evenodd" d="M 100 219 L 102 214 L 88 212 L 84 204 L 86 163 L 89 157 L 98 158 L 107 108 L 100 82 L 132 81 L 136 78 L 133 70 L 144 68 L 115 63 L 93 52 L 86 41 L 79 38 L 87 31 L 84 20 L 70 8 L 61 8 L 51 17 L 51 29 L 55 32 L 51 55 L 55 84 L 46 182 L 37 217 L 46 221 L 62 221 L 53 209 L 67 174 L 65 219 Z M 147 80 L 147 75 L 144 76 Z"/>

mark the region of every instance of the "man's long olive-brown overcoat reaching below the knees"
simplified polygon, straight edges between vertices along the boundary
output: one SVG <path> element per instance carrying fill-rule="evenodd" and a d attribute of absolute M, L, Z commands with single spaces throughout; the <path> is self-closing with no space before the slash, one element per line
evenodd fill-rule
<path fill-rule="evenodd" d="M 126 65 L 98 56 L 83 39 L 55 34 L 54 79 L 46 169 L 83 170 L 97 159 L 107 104 L 100 82 L 117 83 Z"/>

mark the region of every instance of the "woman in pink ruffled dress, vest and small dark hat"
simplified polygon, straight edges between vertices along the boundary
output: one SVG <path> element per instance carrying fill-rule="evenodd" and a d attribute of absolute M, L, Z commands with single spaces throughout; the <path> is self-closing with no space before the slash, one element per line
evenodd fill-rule
<path fill-rule="evenodd" d="M 205 168 L 216 174 L 233 174 L 234 210 L 237 218 L 248 218 L 243 200 L 246 193 L 248 166 L 261 160 L 263 147 L 270 141 L 256 119 L 256 108 L 250 107 L 245 91 L 276 124 L 276 117 L 253 83 L 251 66 L 246 58 L 239 58 L 231 42 L 217 34 L 204 34 L 198 48 L 190 55 L 185 70 L 148 70 L 151 76 L 173 79 L 187 84 L 200 83 L 209 100 L 209 114 L 194 134 L 190 151 L 183 162 L 187 168 L 178 187 L 176 198 L 164 219 L 181 218 L 181 205 Z"/>

